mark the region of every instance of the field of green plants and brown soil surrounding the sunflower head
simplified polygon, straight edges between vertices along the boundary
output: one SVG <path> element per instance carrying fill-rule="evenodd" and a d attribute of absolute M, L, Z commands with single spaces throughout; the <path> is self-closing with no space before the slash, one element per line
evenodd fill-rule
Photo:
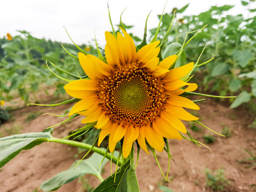
<path fill-rule="evenodd" d="M 191 114 L 199 117 L 203 124 L 196 121 L 184 124 L 193 136 L 188 133 L 191 141 L 204 143 L 211 149 L 199 148 L 198 142 L 195 145 L 186 139 L 169 140 L 167 154 L 155 153 L 153 149 L 148 155 L 134 147 L 135 154 L 137 150 L 140 153 L 135 167 L 141 192 L 256 191 L 256 3 L 251 0 L 241 3 L 247 13 L 238 15 L 227 14 L 233 9 L 232 5 L 212 6 L 209 11 L 189 16 L 186 16 L 189 5 L 180 10 L 174 8 L 158 15 L 161 25 L 148 30 L 147 39 L 157 37 L 162 41 L 160 61 L 176 54 L 179 55 L 176 68 L 196 63 L 191 82 L 196 83 L 198 89 L 188 98 L 201 108 Z M 132 31 L 132 26 L 122 21 L 118 27 Z M 121 31 L 118 27 L 115 29 Z M 166 31 L 169 31 L 167 35 Z M 105 60 L 104 47 L 77 46 L 71 38 L 70 44 L 61 44 L 35 38 L 28 31 L 19 33 L 0 39 L 0 191 L 97 192 L 102 181 L 100 186 L 104 192 L 122 191 L 120 188 L 126 185 L 124 191 L 136 191 L 132 187 L 134 175 L 129 172 L 132 165 L 127 162 L 113 174 L 113 181 L 109 177 L 116 171 L 115 164 L 120 158 L 117 152 L 112 156 L 106 153 L 102 160 L 98 152 L 85 149 L 87 144 L 93 148 L 95 138 L 99 137 L 99 130 L 93 128 L 96 124 L 84 126 L 78 114 L 74 115 L 77 118 L 67 116 L 73 107 L 71 102 L 79 99 L 72 99 L 63 87 L 74 79 L 89 76 L 79 64 L 78 52 Z M 138 47 L 146 40 L 146 36 L 130 35 Z M 63 101 L 65 105 L 58 104 Z M 29 103 L 34 104 L 28 106 Z M 208 127 L 226 137 L 213 133 Z M 21 138 L 21 134 L 26 136 Z M 5 139 L 8 137 L 9 140 Z M 51 142 L 53 137 L 68 137 L 67 142 L 82 144 L 63 145 L 63 140 Z M 9 149 L 11 140 L 17 138 L 20 139 L 17 146 L 22 147 Z M 26 138 L 30 140 L 23 142 Z M 5 145 L 4 141 L 10 144 Z M 62 143 L 67 144 L 65 142 Z M 118 142 L 116 150 L 122 151 L 121 145 Z M 103 140 L 100 147 L 108 148 L 108 139 Z M 5 150 L 13 151 L 4 156 Z M 77 165 L 87 152 L 90 157 Z M 77 172 L 73 174 L 75 166 Z M 124 183 L 123 177 L 132 182 Z M 116 185 L 114 178 L 117 188 L 107 189 L 108 183 Z"/>

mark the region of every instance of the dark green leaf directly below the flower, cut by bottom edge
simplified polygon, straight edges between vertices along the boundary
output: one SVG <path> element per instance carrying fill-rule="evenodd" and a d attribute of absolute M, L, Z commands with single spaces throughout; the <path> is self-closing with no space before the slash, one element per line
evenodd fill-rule
<path fill-rule="evenodd" d="M 135 171 L 127 161 L 116 173 L 110 175 L 93 192 L 139 192 Z"/>

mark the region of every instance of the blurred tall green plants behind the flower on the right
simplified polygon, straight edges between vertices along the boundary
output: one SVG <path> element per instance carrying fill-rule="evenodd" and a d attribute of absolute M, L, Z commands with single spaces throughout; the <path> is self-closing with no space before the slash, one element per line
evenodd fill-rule
<path fill-rule="evenodd" d="M 246 6 L 247 13 L 243 13 L 246 16 L 227 14 L 233 9 L 232 5 L 212 6 L 209 11 L 189 16 L 182 13 L 188 5 L 182 7 L 175 13 L 173 26 L 164 45 L 165 51 L 162 53 L 163 58 L 170 53 L 177 53 L 187 32 L 198 31 L 207 25 L 186 46 L 177 66 L 196 62 L 207 45 L 198 64 L 215 58 L 198 70 L 196 78 L 204 85 L 201 86 L 204 87 L 201 91 L 217 92 L 221 96 L 238 95 L 235 100 L 233 99 L 231 108 L 236 108 L 244 102 L 254 102 L 256 98 L 256 17 L 249 17 L 250 14 L 255 15 L 256 9 L 250 7 L 255 6 L 256 2 L 241 3 Z M 159 38 L 165 35 L 172 18 L 173 11 L 163 15 Z M 155 31 L 156 28 L 151 29 L 150 33 L 154 35 Z M 189 33 L 187 40 L 194 34 Z"/>

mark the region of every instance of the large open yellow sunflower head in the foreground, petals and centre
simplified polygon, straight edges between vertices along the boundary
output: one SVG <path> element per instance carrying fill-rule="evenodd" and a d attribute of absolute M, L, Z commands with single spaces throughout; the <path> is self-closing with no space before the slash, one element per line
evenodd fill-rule
<path fill-rule="evenodd" d="M 193 69 L 193 62 L 169 70 L 177 55 L 159 62 L 159 41 L 137 52 L 132 37 L 122 31 L 123 35 L 117 33 L 117 37 L 105 33 L 107 63 L 93 55 L 78 53 L 89 78 L 72 81 L 64 89 L 81 99 L 69 116 L 76 113 L 86 116 L 82 123 L 97 122 L 95 128 L 101 130 L 98 145 L 109 135 L 110 152 L 123 139 L 122 152 L 126 158 L 135 140 L 146 153 L 149 153 L 147 145 L 163 151 L 164 138 L 181 140 L 179 132 L 187 133 L 181 120 L 198 119 L 183 107 L 195 110 L 199 107 L 179 96 L 197 89 L 195 83 L 181 80 Z"/>

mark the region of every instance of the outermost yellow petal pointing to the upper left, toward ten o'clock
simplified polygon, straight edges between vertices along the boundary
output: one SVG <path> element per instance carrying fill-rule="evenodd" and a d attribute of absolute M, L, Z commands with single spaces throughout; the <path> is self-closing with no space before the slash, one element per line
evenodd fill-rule
<path fill-rule="evenodd" d="M 81 52 L 78 53 L 78 59 L 86 75 L 91 79 L 96 79 L 97 71 L 95 71 L 92 61 Z"/>

